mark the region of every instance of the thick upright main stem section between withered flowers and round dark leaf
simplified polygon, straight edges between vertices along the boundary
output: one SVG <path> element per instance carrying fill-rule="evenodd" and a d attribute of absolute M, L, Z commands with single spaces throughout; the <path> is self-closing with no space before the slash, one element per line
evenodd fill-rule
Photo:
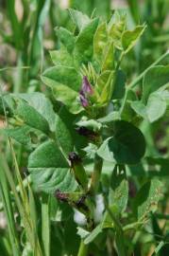
<path fill-rule="evenodd" d="M 91 188 L 90 188 L 90 192 L 92 194 L 94 194 L 98 190 L 100 175 L 102 172 L 102 166 L 103 166 L 103 159 L 100 156 L 95 155 L 93 175 L 92 175 Z"/>

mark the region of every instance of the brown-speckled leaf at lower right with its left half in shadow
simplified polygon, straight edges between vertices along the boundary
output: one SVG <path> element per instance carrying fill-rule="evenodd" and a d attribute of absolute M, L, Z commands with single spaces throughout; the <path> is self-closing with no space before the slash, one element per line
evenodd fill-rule
<path fill-rule="evenodd" d="M 162 183 L 158 179 L 152 179 L 144 184 L 136 195 L 134 208 L 139 221 L 144 221 L 148 213 L 157 210 L 162 196 Z"/>

